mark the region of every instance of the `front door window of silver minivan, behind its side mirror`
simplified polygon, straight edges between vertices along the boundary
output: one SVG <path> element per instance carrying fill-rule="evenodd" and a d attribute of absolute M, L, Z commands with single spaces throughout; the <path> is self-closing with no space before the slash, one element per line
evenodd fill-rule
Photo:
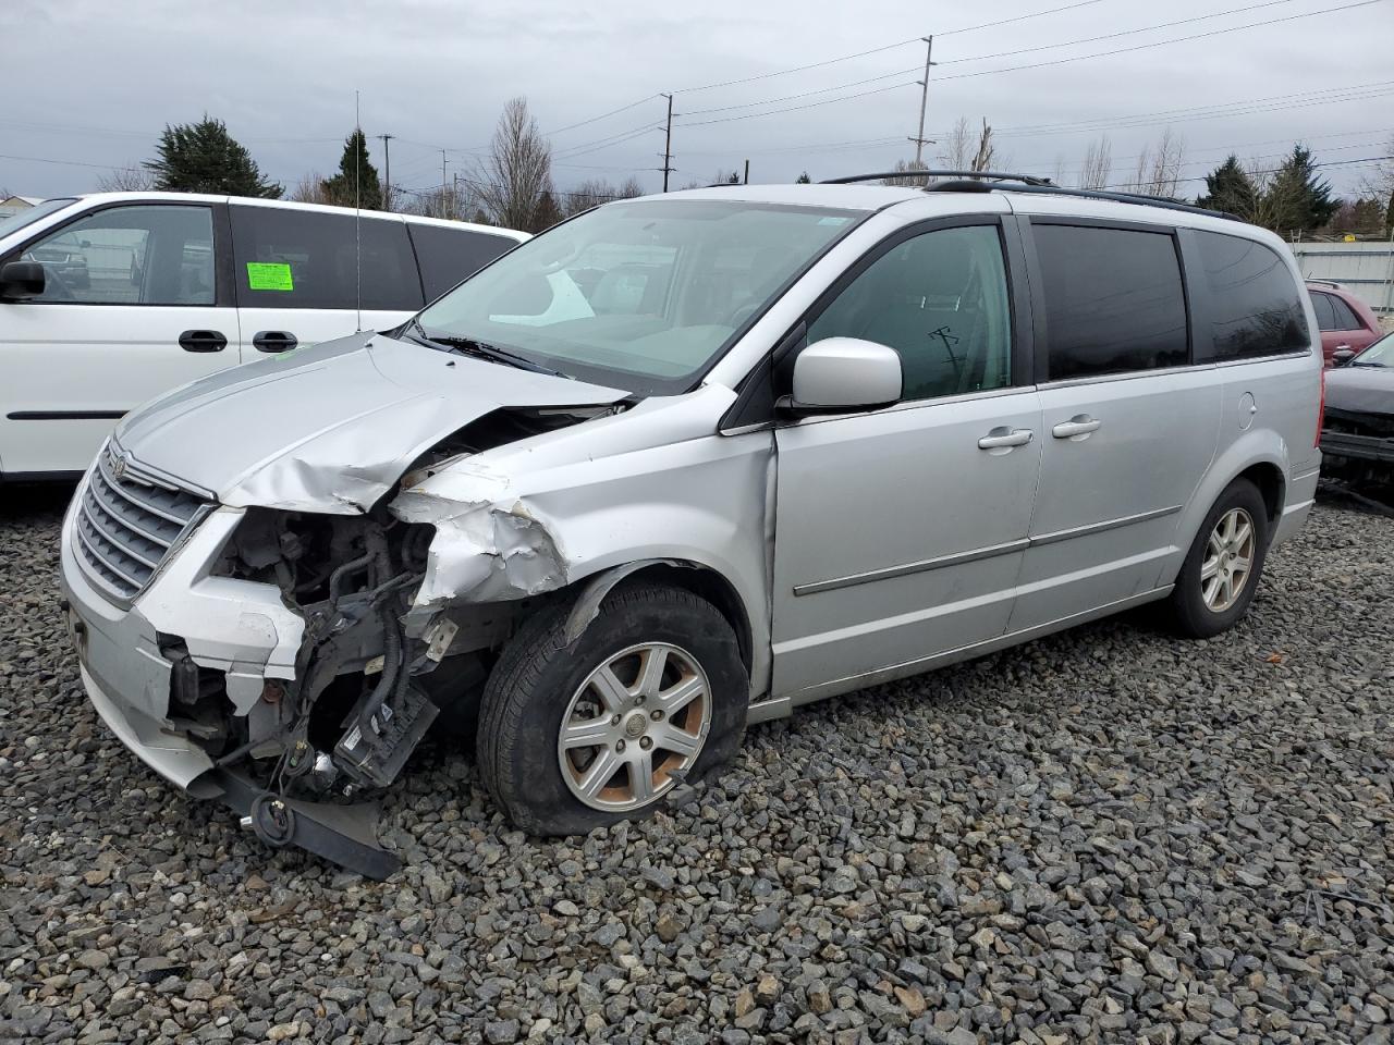
<path fill-rule="evenodd" d="M 809 327 L 901 354 L 903 398 L 1012 383 L 1012 319 L 997 226 L 941 229 L 877 258 Z"/>

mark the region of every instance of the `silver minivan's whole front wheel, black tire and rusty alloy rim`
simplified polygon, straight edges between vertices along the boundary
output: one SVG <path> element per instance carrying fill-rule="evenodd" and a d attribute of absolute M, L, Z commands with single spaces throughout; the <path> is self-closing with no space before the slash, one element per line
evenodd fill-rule
<path fill-rule="evenodd" d="M 735 631 L 691 592 L 622 585 L 570 647 L 569 609 L 519 628 L 480 708 L 484 782 L 537 835 L 652 814 L 730 759 L 750 699 Z"/>

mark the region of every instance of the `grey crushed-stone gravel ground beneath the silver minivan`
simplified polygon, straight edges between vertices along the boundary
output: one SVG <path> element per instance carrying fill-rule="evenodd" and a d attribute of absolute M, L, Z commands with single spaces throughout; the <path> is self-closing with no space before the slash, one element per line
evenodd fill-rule
<path fill-rule="evenodd" d="M 1394 520 L 1319 509 L 1228 635 L 1108 621 L 817 705 L 569 843 L 436 743 L 371 883 L 96 720 L 64 499 L 0 493 L 0 1038 L 1390 1041 Z"/>

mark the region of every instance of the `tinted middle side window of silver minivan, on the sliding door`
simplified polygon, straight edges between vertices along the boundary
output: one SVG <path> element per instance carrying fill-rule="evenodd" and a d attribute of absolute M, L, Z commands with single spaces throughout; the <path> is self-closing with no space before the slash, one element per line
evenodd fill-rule
<path fill-rule="evenodd" d="M 1032 230 L 1046 284 L 1048 380 L 1186 362 L 1186 298 L 1171 235 Z"/>

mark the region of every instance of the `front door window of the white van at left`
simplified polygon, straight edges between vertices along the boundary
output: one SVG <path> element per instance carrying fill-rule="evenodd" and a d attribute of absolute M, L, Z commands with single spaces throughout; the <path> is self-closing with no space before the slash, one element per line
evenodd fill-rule
<path fill-rule="evenodd" d="M 121 206 L 31 244 L 43 266 L 32 301 L 78 305 L 212 305 L 213 217 L 206 206 Z"/>

